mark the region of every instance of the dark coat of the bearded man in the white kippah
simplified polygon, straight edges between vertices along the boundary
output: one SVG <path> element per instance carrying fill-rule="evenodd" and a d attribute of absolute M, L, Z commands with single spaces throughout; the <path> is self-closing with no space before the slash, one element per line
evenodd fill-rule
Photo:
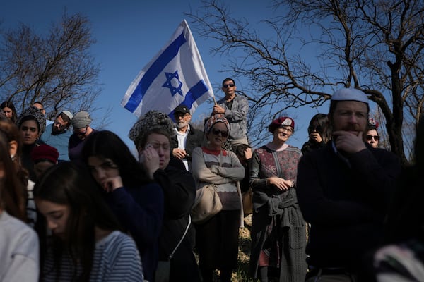
<path fill-rule="evenodd" d="M 346 158 L 334 152 L 332 142 L 305 154 L 298 166 L 297 195 L 311 224 L 308 263 L 357 272 L 363 256 L 382 243 L 401 166 L 393 153 L 370 146 Z"/>

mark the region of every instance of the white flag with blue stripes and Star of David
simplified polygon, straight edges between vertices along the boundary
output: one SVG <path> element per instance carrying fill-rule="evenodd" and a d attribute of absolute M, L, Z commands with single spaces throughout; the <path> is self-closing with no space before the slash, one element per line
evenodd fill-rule
<path fill-rule="evenodd" d="M 213 97 L 211 82 L 189 25 L 183 20 L 170 42 L 131 82 L 121 104 L 137 117 L 157 110 L 173 119 L 173 111 L 180 104 L 193 114 L 209 97 Z"/>

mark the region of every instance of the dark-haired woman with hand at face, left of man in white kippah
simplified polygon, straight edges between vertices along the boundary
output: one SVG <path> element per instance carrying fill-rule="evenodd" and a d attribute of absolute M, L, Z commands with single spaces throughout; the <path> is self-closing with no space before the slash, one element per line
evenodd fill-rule
<path fill-rule="evenodd" d="M 310 125 L 307 127 L 309 140 L 302 146 L 302 154 L 314 151 L 326 145 L 329 141 L 328 118 L 326 114 L 316 114 L 312 116 Z"/>

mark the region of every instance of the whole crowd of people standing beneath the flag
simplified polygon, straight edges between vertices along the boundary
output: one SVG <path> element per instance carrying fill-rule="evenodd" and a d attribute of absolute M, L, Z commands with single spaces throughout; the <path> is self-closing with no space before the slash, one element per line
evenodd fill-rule
<path fill-rule="evenodd" d="M 49 121 L 40 102 L 20 115 L 3 102 L 0 281 L 230 282 L 247 214 L 252 281 L 423 281 L 424 119 L 408 168 L 353 88 L 312 116 L 301 148 L 289 116 L 254 148 L 236 89 L 223 80 L 203 130 L 187 105 L 148 111 L 129 130 L 138 156 L 87 111 Z M 195 221 L 206 186 L 220 208 Z"/>

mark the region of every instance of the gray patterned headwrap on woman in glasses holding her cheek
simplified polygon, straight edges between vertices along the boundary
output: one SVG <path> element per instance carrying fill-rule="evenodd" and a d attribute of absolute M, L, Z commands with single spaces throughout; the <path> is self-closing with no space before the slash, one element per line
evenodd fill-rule
<path fill-rule="evenodd" d="M 146 135 L 155 128 L 165 129 L 170 137 L 175 136 L 175 123 L 166 114 L 160 111 L 148 111 L 144 116 L 141 116 L 133 127 L 129 130 L 128 137 L 137 146 Z"/>

